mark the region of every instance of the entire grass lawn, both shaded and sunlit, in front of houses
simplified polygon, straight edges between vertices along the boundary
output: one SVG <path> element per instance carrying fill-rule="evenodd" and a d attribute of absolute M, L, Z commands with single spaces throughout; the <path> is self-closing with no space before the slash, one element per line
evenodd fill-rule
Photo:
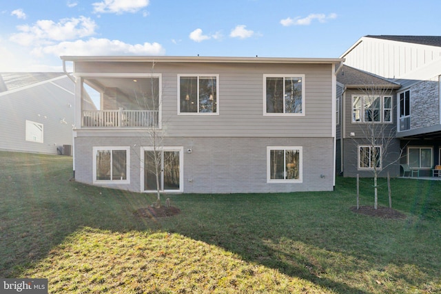
<path fill-rule="evenodd" d="M 71 176 L 72 158 L 0 152 L 0 277 L 45 277 L 50 293 L 441 293 L 441 181 L 391 181 L 404 220 L 352 213 L 348 178 L 334 192 L 167 195 L 181 214 L 145 219 L 134 211 L 154 195 Z"/>

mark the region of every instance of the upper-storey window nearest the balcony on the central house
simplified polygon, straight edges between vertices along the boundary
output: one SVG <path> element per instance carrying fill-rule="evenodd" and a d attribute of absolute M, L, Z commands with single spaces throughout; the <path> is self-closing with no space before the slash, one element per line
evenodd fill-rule
<path fill-rule="evenodd" d="M 218 114 L 218 75 L 178 76 L 180 114 Z"/>

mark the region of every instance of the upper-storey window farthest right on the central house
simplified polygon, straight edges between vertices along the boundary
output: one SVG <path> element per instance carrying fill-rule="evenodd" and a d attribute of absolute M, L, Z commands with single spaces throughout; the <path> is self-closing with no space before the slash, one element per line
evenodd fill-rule
<path fill-rule="evenodd" d="M 273 75 L 264 78 L 264 103 L 267 115 L 305 114 L 305 74 Z"/>

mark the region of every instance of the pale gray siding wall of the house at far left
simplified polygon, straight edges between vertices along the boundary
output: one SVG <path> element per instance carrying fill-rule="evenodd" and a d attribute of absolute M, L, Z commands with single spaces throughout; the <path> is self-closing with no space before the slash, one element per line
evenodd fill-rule
<path fill-rule="evenodd" d="M 1 93 L 0 149 L 57 154 L 57 147 L 72 145 L 73 88 L 72 81 L 64 76 L 23 90 Z M 25 120 L 43 125 L 43 143 L 25 140 Z M 61 123 L 62 120 L 65 123 Z"/>

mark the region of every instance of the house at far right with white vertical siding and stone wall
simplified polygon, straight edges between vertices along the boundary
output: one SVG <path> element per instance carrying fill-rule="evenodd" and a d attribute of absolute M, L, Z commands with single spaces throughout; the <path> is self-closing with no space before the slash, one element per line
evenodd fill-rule
<path fill-rule="evenodd" d="M 340 57 L 345 65 L 401 85 L 395 113 L 400 163 L 419 176 L 436 175 L 433 169 L 441 165 L 441 36 L 363 36 Z"/>

